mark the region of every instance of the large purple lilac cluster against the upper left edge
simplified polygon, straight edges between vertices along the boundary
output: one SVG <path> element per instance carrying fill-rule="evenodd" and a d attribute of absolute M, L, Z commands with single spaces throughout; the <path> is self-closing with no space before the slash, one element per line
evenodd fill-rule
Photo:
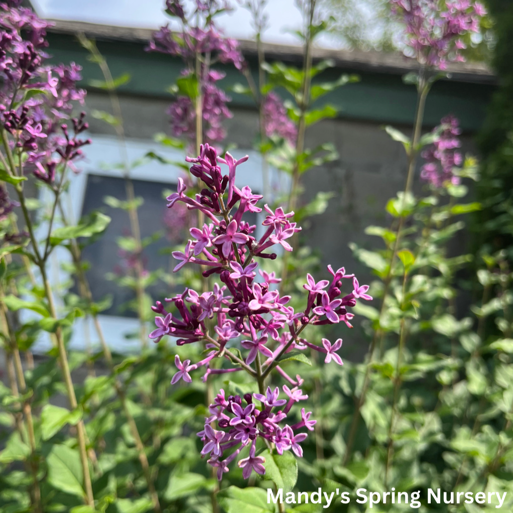
<path fill-rule="evenodd" d="M 10 134 L 13 152 L 25 152 L 24 169 L 53 183 L 56 168 L 72 169 L 89 141 L 77 139 L 87 129 L 84 114 L 68 125 L 72 102 L 83 103 L 85 91 L 76 87 L 81 68 L 45 65 L 46 21 L 19 2 L 0 5 L 0 123 Z"/>

